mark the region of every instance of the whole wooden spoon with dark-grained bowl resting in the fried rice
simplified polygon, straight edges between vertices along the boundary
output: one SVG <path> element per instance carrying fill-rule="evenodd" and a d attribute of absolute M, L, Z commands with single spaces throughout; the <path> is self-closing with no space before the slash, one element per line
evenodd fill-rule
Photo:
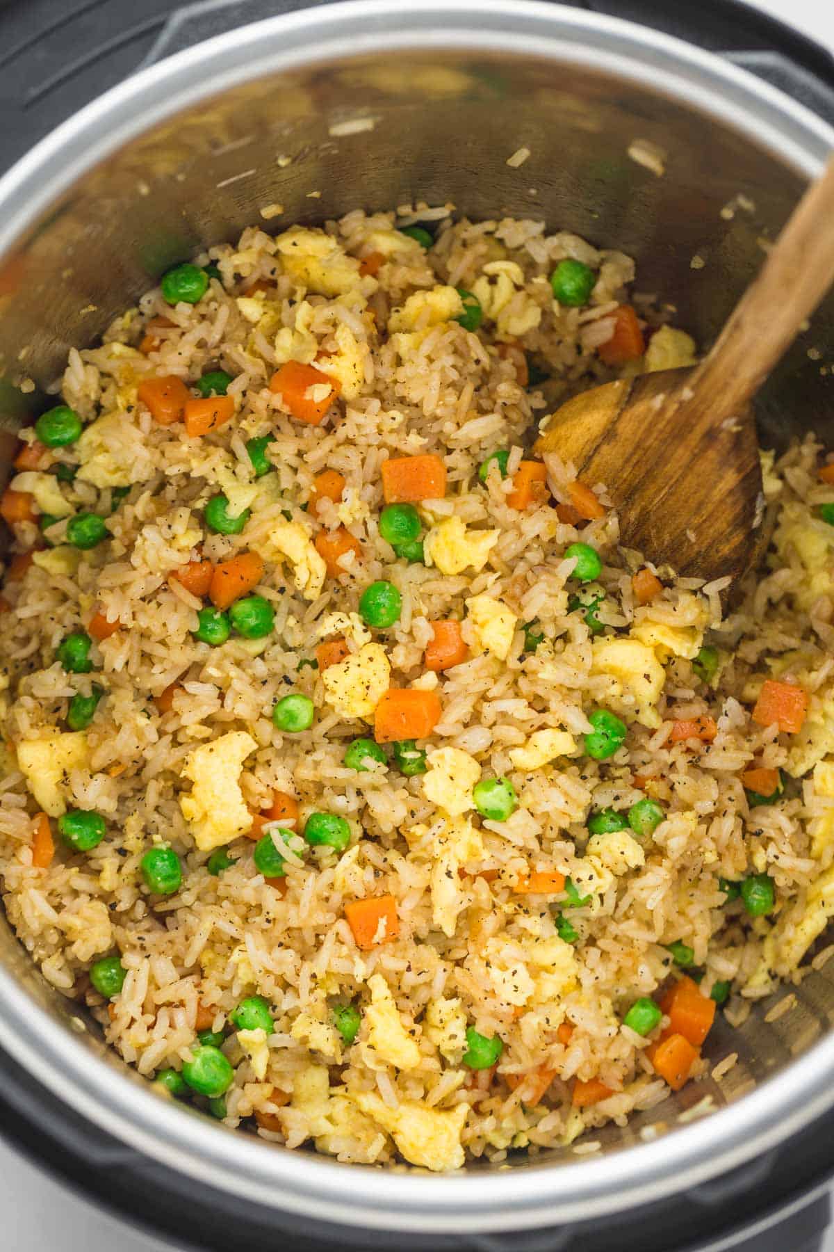
<path fill-rule="evenodd" d="M 604 483 L 621 542 L 686 577 L 739 578 L 760 543 L 750 401 L 834 283 L 834 159 L 803 195 L 704 361 L 583 392 L 534 451 Z"/>

